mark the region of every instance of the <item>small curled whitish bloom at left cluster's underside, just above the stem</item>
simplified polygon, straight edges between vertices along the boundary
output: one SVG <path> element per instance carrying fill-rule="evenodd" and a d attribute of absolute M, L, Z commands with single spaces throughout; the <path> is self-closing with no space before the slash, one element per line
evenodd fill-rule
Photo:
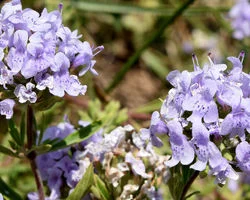
<path fill-rule="evenodd" d="M 29 101 L 30 103 L 36 102 L 36 93 L 32 91 L 34 87 L 35 85 L 30 82 L 26 84 L 26 87 L 22 84 L 16 86 L 14 94 L 16 95 L 20 103 L 25 103 L 26 101 Z"/>

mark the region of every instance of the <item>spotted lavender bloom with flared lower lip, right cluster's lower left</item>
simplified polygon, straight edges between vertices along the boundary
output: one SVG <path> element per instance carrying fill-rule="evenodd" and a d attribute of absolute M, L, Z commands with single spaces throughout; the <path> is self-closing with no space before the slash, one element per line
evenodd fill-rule
<path fill-rule="evenodd" d="M 172 158 L 165 162 L 168 167 L 173 167 L 179 162 L 188 165 L 194 160 L 194 150 L 183 134 L 183 128 L 178 121 L 167 123 L 169 129 L 169 141 L 172 149 Z"/>

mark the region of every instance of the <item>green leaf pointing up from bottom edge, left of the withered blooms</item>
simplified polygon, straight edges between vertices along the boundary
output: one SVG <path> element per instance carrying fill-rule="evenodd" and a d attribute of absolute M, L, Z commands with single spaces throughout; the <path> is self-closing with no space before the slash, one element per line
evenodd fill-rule
<path fill-rule="evenodd" d="M 90 190 L 93 185 L 94 169 L 92 164 L 89 165 L 82 179 L 76 185 L 74 191 L 68 196 L 66 200 L 82 199 Z"/>

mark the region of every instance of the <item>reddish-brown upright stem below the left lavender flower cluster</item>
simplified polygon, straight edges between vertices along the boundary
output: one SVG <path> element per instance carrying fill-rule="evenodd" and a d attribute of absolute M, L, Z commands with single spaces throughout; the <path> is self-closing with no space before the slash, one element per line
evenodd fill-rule
<path fill-rule="evenodd" d="M 27 118 L 26 118 L 26 133 L 27 133 L 27 149 L 28 151 L 32 148 L 33 144 L 35 144 L 36 139 L 36 130 L 34 127 L 34 113 L 33 109 L 30 105 L 27 106 Z M 40 173 L 37 169 L 37 165 L 35 162 L 36 152 L 31 151 L 27 154 L 27 158 L 29 159 L 31 170 L 35 177 L 35 182 L 38 190 L 39 200 L 44 200 L 44 190 L 43 190 L 43 182 L 40 176 Z"/>

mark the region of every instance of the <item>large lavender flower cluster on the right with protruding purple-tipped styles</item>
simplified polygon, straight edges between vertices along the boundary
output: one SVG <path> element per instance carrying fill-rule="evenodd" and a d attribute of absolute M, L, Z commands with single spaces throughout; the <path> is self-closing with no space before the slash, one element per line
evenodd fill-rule
<path fill-rule="evenodd" d="M 238 178 L 236 171 L 250 172 L 250 75 L 242 71 L 244 52 L 228 57 L 230 69 L 214 64 L 210 55 L 208 59 L 210 63 L 200 68 L 193 55 L 193 72 L 169 73 L 173 88 L 160 114 L 153 116 L 158 118 L 154 123 L 165 123 L 161 132 L 169 135 L 172 157 L 167 166 L 181 163 L 198 171 L 209 166 L 209 174 L 224 184 L 227 178 Z M 155 140 L 155 131 L 149 131 Z"/>

